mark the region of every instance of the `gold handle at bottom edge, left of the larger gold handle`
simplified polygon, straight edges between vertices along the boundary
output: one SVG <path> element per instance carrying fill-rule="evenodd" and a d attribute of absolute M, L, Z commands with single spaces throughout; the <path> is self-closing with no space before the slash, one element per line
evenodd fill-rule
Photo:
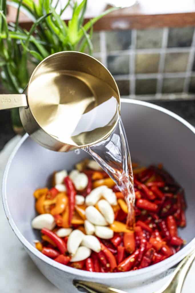
<path fill-rule="evenodd" d="M 73 285 L 75 285 L 78 290 L 87 293 L 127 293 L 125 291 L 94 282 L 74 280 Z"/>

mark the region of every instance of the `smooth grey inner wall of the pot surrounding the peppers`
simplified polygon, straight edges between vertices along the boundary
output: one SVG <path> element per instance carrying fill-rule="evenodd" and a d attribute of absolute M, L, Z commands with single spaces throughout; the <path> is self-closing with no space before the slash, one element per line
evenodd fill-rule
<path fill-rule="evenodd" d="M 165 169 L 184 187 L 187 200 L 187 227 L 180 236 L 189 243 L 195 236 L 195 135 L 172 116 L 150 108 L 149 104 L 122 102 L 121 115 L 125 126 L 132 161 L 143 165 L 163 163 Z M 75 154 L 49 151 L 28 137 L 16 152 L 8 170 L 6 197 L 13 221 L 23 236 L 32 243 L 39 231 L 31 228 L 35 217 L 33 192 L 45 187 L 54 171 L 72 170 L 75 163 L 87 157 L 84 151 Z"/>

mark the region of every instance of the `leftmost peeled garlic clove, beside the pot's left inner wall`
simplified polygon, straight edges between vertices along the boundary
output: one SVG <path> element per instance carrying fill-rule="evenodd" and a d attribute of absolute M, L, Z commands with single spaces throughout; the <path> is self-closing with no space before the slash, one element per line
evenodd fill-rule
<path fill-rule="evenodd" d="M 43 228 L 47 228 L 52 230 L 55 226 L 56 222 L 51 214 L 41 214 L 32 220 L 32 228 L 34 229 L 41 230 Z"/>

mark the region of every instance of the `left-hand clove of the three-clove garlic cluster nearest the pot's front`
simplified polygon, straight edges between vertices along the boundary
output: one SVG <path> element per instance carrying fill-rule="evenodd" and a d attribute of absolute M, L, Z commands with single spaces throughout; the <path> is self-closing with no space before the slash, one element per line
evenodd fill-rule
<path fill-rule="evenodd" d="M 67 241 L 67 250 L 71 254 L 75 254 L 79 245 L 81 244 L 82 240 L 84 238 L 84 233 L 80 230 L 76 229 L 73 230 L 70 235 L 68 236 Z"/>

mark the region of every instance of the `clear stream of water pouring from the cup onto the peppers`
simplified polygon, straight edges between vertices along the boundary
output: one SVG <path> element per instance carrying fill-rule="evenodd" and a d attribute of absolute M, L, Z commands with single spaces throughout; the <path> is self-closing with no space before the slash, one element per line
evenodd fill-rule
<path fill-rule="evenodd" d="M 114 131 L 107 139 L 83 149 L 108 173 L 123 193 L 128 206 L 127 227 L 133 229 L 135 202 L 133 172 L 127 137 L 120 115 Z"/>

